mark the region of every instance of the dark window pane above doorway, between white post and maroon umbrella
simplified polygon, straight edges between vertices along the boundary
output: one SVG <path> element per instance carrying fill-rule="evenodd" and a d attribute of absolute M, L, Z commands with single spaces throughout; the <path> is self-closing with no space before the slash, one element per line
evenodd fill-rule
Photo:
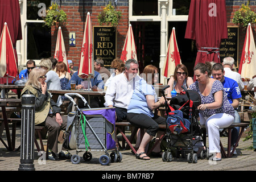
<path fill-rule="evenodd" d="M 190 2 L 191 0 L 173 0 L 172 9 L 176 10 L 176 15 L 188 15 Z"/>

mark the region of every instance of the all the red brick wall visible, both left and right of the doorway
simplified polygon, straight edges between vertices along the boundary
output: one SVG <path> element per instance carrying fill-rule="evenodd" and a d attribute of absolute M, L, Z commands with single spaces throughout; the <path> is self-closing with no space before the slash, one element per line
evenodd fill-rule
<path fill-rule="evenodd" d="M 71 59 L 75 66 L 79 65 L 80 59 L 80 49 L 82 43 L 82 36 L 84 34 L 84 23 L 86 20 L 86 14 L 90 12 L 92 19 L 92 26 L 99 26 L 97 20 L 97 15 L 103 9 L 108 2 L 111 0 L 58 0 L 57 3 L 61 5 L 61 9 L 65 11 L 68 15 L 67 24 L 62 28 L 65 48 L 67 52 L 68 59 Z M 56 2 L 56 1 L 54 1 Z M 61 2 L 61 3 L 60 3 Z M 234 26 L 232 19 L 234 12 L 240 9 L 242 3 L 246 3 L 245 0 L 226 0 L 226 13 L 227 13 L 227 22 L 228 26 Z M 115 5 L 114 0 L 112 0 L 112 5 Z M 129 0 L 118 0 L 115 8 L 123 13 L 123 19 L 119 22 L 117 26 L 117 57 L 121 56 L 123 43 L 125 42 L 126 33 L 128 30 L 129 22 Z M 250 1 L 250 8 L 253 11 L 256 11 L 256 2 Z M 69 32 L 76 32 L 76 47 L 69 47 Z M 52 55 L 55 51 L 56 39 L 57 39 L 57 27 L 52 28 Z M 241 59 L 241 51 L 243 48 L 243 42 L 245 40 L 246 28 L 242 30 L 240 28 L 239 32 L 239 53 L 238 59 Z M 254 35 L 255 35 L 255 26 L 254 26 Z M 256 40 L 256 35 L 254 36 Z"/>

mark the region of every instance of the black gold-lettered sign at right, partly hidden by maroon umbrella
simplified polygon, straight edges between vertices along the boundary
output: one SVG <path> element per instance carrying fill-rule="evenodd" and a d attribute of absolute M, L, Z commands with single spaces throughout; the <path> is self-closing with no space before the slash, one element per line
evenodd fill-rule
<path fill-rule="evenodd" d="M 222 39 L 220 46 L 221 63 L 225 57 L 233 57 L 236 68 L 238 68 L 238 28 L 238 26 L 228 26 L 228 39 Z"/>

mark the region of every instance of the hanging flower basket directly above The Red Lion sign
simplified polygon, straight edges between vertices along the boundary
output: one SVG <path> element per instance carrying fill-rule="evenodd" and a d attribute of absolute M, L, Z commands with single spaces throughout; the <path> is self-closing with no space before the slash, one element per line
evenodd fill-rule
<path fill-rule="evenodd" d="M 110 1 L 109 4 L 101 11 L 101 13 L 98 14 L 97 18 L 100 25 L 105 24 L 117 26 L 119 20 L 122 19 L 122 12 L 115 10 Z"/>

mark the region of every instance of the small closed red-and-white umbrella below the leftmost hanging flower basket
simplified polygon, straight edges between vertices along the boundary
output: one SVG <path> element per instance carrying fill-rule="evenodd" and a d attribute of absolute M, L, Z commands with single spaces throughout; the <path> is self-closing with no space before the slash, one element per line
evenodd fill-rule
<path fill-rule="evenodd" d="M 58 30 L 54 58 L 56 58 L 57 61 L 64 62 L 69 68 L 61 27 L 59 27 L 59 30 Z M 68 69 L 68 72 L 70 73 L 70 69 Z"/>

